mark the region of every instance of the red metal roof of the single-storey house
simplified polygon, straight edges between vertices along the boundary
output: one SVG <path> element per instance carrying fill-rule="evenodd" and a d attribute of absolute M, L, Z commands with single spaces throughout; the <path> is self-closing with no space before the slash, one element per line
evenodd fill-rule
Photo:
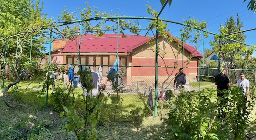
<path fill-rule="evenodd" d="M 174 36 L 168 34 L 175 41 L 178 41 Z M 154 37 L 145 37 L 138 35 L 126 35 L 126 38 L 122 38 L 119 35 L 118 52 L 128 53 L 132 52 L 134 48 L 145 44 Z M 202 54 L 195 50 L 195 48 L 189 44 L 184 44 L 184 49 L 194 54 L 194 57 L 202 57 Z M 74 53 L 79 51 L 79 36 L 75 41 L 68 41 L 64 46 L 64 49 L 60 53 Z M 80 52 L 117 52 L 117 34 L 103 34 L 102 36 L 94 36 L 93 34 L 87 34 L 81 36 Z"/>

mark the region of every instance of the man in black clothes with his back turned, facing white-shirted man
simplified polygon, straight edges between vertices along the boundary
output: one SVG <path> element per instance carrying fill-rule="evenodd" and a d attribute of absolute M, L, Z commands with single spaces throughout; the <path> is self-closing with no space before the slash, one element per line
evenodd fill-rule
<path fill-rule="evenodd" d="M 220 74 L 215 76 L 215 85 L 217 85 L 217 96 L 222 98 L 222 100 L 219 103 L 219 106 L 221 108 L 218 110 L 218 113 L 219 113 L 218 117 L 220 117 L 223 105 L 228 102 L 228 100 L 224 98 L 225 90 L 227 92 L 228 88 L 230 88 L 230 80 L 227 75 L 228 75 L 228 70 L 223 70 Z M 222 118 L 226 116 L 224 113 L 221 115 L 222 115 Z"/>

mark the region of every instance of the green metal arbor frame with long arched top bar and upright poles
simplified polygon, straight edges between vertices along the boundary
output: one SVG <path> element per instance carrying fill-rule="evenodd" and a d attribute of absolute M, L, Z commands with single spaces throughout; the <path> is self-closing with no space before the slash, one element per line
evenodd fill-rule
<path fill-rule="evenodd" d="M 191 26 L 189 26 L 187 24 L 184 24 L 184 23 L 180 23 L 180 22 L 175 22 L 175 21 L 172 21 L 172 20 L 165 20 L 165 19 L 159 18 L 162 10 L 164 9 L 164 7 L 166 6 L 167 3 L 168 3 L 168 0 L 166 0 L 166 3 L 162 7 L 160 13 L 158 14 L 158 16 L 156 18 L 135 17 L 135 16 L 95 17 L 95 18 L 90 18 L 90 19 L 86 19 L 86 20 L 76 20 L 76 21 L 73 21 L 73 22 L 67 22 L 67 23 L 63 23 L 63 24 L 58 24 L 55 27 L 64 26 L 64 25 L 68 25 L 68 24 L 76 24 L 76 23 L 80 23 L 80 25 L 81 25 L 81 23 L 85 22 L 85 21 L 114 19 L 114 20 L 118 20 L 118 32 L 119 32 L 119 30 L 120 30 L 119 29 L 119 20 L 120 19 L 141 19 L 141 20 L 157 20 L 157 21 L 169 22 L 169 23 L 174 23 L 174 24 L 180 24 L 180 25 L 182 25 L 182 30 L 184 29 L 184 26 L 187 26 L 187 27 L 190 27 L 190 28 L 194 28 L 194 27 L 191 27 Z M 151 26 L 151 28 L 152 28 L 152 26 Z M 201 29 L 198 29 L 198 28 L 194 28 L 194 29 L 201 30 Z M 250 29 L 250 30 L 255 30 L 255 29 L 256 28 Z M 49 30 L 49 29 L 45 29 L 45 30 Z M 80 31 L 81 30 L 82 30 L 82 26 L 80 26 Z M 240 31 L 240 32 L 246 32 L 246 31 L 250 31 L 250 30 L 244 30 L 244 31 Z M 208 32 L 207 30 L 201 30 L 201 31 L 202 32 L 207 32 L 207 33 L 212 34 L 214 36 L 218 35 L 218 34 L 215 34 L 213 32 Z M 156 34 L 158 34 L 158 30 L 156 30 L 155 32 L 156 32 Z M 240 32 L 236 32 L 236 33 L 240 33 Z M 232 33 L 232 34 L 236 34 L 236 33 Z M 9 36 L 8 38 L 13 38 L 13 37 L 20 36 L 20 35 L 23 35 L 23 34 L 24 33 L 16 34 L 16 35 L 13 35 L 13 36 Z M 148 32 L 146 34 L 148 34 Z M 230 34 L 226 34 L 226 35 L 223 35 L 223 36 L 227 36 L 227 35 L 230 35 Z M 0 40 L 5 40 L 4 58 L 6 58 L 6 46 L 7 46 L 8 38 L 0 39 Z M 119 38 L 119 34 L 118 34 L 118 38 Z M 233 40 L 231 38 L 227 38 L 227 39 L 232 40 L 234 42 L 238 42 L 238 41 Z M 33 40 L 33 38 L 31 38 L 31 44 L 30 44 L 30 62 L 31 62 L 32 40 Z M 17 38 L 17 42 L 18 42 L 18 38 Z M 242 42 L 238 42 L 238 43 L 244 44 Z M 50 59 L 51 58 L 51 47 L 52 47 L 51 46 L 51 44 L 52 44 L 52 30 L 50 30 L 50 41 L 49 41 L 49 44 L 50 44 L 50 46 L 49 46 L 49 55 L 48 55 L 48 57 L 49 57 L 49 64 L 50 64 L 50 60 L 51 60 Z M 81 44 L 81 34 L 80 34 L 80 39 L 79 39 L 79 52 L 78 52 L 79 53 L 79 56 L 78 56 L 79 59 L 78 59 L 78 65 L 80 65 L 80 44 Z M 118 58 L 118 44 L 119 44 L 119 40 L 117 39 L 117 58 Z M 244 45 L 250 46 L 248 44 L 244 44 Z M 17 46 L 18 46 L 18 44 L 17 44 Z M 158 48 L 158 36 L 156 36 L 156 48 Z M 17 52 L 18 52 L 18 47 L 16 49 L 16 56 L 17 56 Z M 184 56 L 184 40 L 182 40 L 182 55 Z M 204 36 L 203 36 L 203 55 L 204 55 Z M 182 68 L 183 68 L 183 62 L 184 62 L 183 56 L 182 56 Z M 203 57 L 203 63 L 204 63 L 204 57 Z M 168 68 L 174 68 L 174 67 L 168 67 Z M 201 68 L 199 68 L 199 72 L 201 71 L 200 69 Z M 219 62 L 219 69 L 220 69 L 220 62 Z M 5 71 L 5 66 L 4 66 L 4 70 L 3 70 L 3 83 L 2 83 L 2 88 L 3 89 L 4 89 L 4 71 Z M 201 79 L 201 78 L 199 78 L 199 79 Z M 200 84 L 199 84 L 199 87 L 200 87 Z M 47 99 L 46 99 L 46 102 L 47 102 Z M 155 117 L 157 116 L 157 102 L 158 102 L 158 49 L 156 49 L 156 56 L 155 56 L 155 106 L 154 106 L 154 116 Z M 47 104 L 46 104 L 46 106 L 47 106 Z"/>

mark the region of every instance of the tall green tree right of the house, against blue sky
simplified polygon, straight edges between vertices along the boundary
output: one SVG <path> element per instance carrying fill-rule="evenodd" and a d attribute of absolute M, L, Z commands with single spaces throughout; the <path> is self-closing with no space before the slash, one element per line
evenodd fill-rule
<path fill-rule="evenodd" d="M 252 52 L 248 51 L 251 50 L 252 47 L 244 45 L 246 39 L 244 33 L 241 32 L 223 36 L 241 31 L 243 23 L 238 14 L 237 17 L 237 22 L 235 22 L 233 16 L 230 16 L 230 18 L 227 19 L 225 26 L 220 26 L 220 35 L 214 37 L 214 42 L 210 42 L 211 46 L 213 46 L 213 51 L 220 55 L 220 60 L 227 64 L 227 68 L 236 67 L 236 61 L 242 60 L 245 56 L 250 56 L 252 54 Z"/>

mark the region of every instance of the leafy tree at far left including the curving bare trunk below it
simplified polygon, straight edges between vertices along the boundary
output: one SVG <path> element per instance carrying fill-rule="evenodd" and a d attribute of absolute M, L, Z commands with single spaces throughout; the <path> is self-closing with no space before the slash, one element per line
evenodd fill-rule
<path fill-rule="evenodd" d="M 34 37 L 43 36 L 46 33 L 44 29 L 49 27 L 51 21 L 47 20 L 45 15 L 42 14 L 43 6 L 39 7 L 39 0 L 36 0 L 35 4 L 32 3 L 32 0 L 0 0 L 0 2 L 1 67 L 3 68 L 6 65 L 2 62 L 8 62 L 9 65 L 14 66 L 13 68 L 17 76 L 17 81 L 9 84 L 4 89 L 3 98 L 7 106 L 15 108 L 17 105 L 11 106 L 8 104 L 5 93 L 11 86 L 20 82 L 19 68 L 22 67 L 24 62 L 28 61 L 28 56 L 30 56 L 30 46 L 28 47 L 28 44 L 31 43 Z M 11 38 L 11 36 L 16 34 L 20 34 L 18 42 L 16 39 Z M 4 42 L 6 41 L 8 41 L 7 59 L 3 59 Z M 40 44 L 41 41 L 34 40 L 33 43 Z M 19 48 L 17 56 L 16 47 Z M 41 50 L 44 50 L 44 47 L 43 45 L 37 45 L 33 46 L 32 50 L 31 57 L 38 58 L 42 56 Z"/>

